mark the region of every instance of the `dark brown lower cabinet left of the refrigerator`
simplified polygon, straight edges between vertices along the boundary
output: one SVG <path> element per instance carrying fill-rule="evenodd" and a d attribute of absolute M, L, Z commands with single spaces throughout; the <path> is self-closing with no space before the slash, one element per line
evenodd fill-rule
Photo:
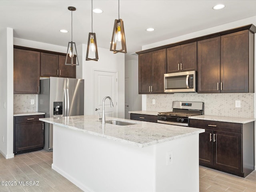
<path fill-rule="evenodd" d="M 44 115 L 14 117 L 14 154 L 41 150 L 44 147 Z"/>

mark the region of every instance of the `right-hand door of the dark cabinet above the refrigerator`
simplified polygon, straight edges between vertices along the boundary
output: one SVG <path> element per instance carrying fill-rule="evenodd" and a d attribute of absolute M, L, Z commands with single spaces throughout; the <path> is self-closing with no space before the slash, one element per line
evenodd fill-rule
<path fill-rule="evenodd" d="M 65 65 L 66 56 L 59 55 L 59 77 L 76 78 L 76 66 Z M 71 58 L 68 57 L 68 63 L 71 63 Z M 76 58 L 74 58 L 76 64 Z"/>

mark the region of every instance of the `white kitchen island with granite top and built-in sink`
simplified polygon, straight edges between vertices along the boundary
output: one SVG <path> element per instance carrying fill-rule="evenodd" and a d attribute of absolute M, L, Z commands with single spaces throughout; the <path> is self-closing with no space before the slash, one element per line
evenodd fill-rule
<path fill-rule="evenodd" d="M 42 118 L 53 124 L 52 168 L 84 191 L 199 192 L 204 129 L 97 116 Z"/>

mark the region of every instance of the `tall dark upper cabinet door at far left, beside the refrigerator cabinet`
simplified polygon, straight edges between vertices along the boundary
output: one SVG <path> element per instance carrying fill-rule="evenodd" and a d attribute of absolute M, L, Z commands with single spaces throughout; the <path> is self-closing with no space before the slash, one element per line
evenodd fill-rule
<path fill-rule="evenodd" d="M 14 94 L 38 94 L 40 52 L 14 49 Z"/>

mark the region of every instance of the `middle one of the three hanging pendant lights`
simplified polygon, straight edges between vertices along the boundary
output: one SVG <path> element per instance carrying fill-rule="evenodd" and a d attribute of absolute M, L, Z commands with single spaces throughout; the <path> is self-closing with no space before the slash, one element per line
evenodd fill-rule
<path fill-rule="evenodd" d="M 91 57 L 91 58 L 89 58 Z M 86 61 L 93 60 L 98 61 L 98 48 L 97 48 L 97 41 L 96 41 L 96 34 L 91 32 L 88 36 L 88 43 L 87 43 L 87 51 L 86 51 Z"/>

